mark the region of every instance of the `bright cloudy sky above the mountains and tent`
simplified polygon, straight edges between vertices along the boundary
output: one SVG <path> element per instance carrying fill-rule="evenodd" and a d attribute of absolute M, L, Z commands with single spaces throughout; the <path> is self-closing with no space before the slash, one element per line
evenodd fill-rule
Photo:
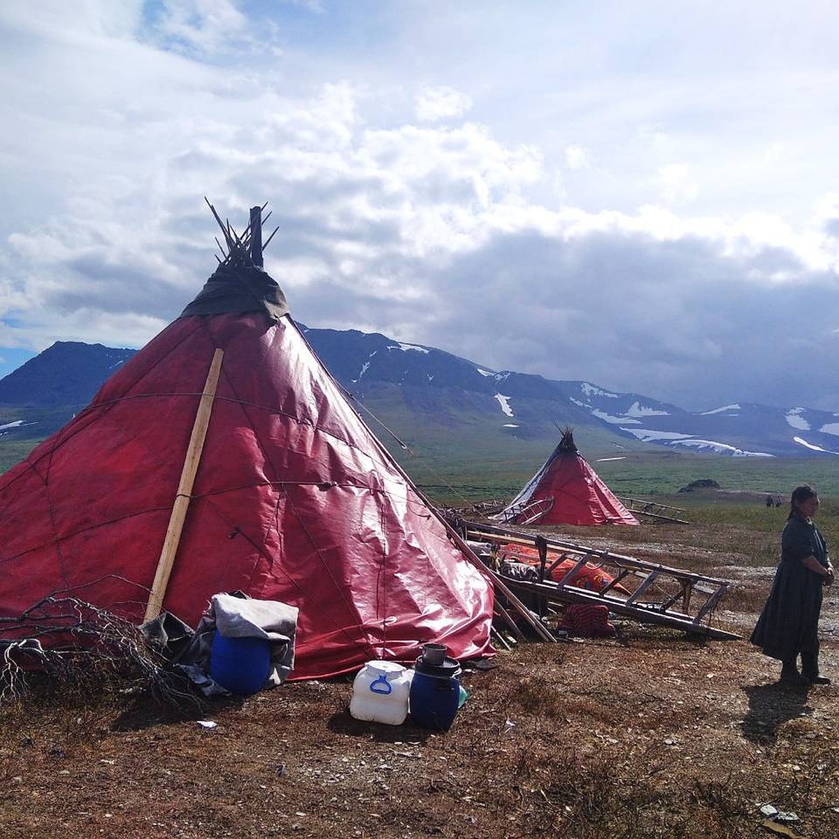
<path fill-rule="evenodd" d="M 308 326 L 839 411 L 839 4 L 3 0 L 0 375 L 140 347 L 268 201 Z"/>

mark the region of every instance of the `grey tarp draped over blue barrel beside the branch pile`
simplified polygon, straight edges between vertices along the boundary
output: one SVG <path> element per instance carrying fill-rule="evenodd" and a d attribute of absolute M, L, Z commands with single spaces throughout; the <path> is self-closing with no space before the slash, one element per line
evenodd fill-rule
<path fill-rule="evenodd" d="M 216 629 L 226 638 L 263 638 L 271 644 L 273 669 L 266 687 L 281 685 L 294 670 L 294 635 L 298 609 L 274 600 L 216 594 L 193 632 L 169 612 L 144 623 L 143 634 L 159 652 L 184 670 L 206 696 L 228 693 L 210 678 L 210 652 Z"/>

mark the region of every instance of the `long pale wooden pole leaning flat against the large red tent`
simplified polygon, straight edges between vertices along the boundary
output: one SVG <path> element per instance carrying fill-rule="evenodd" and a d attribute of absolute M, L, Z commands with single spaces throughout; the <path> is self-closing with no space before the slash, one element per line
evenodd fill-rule
<path fill-rule="evenodd" d="M 207 426 L 210 425 L 210 413 L 213 399 L 216 397 L 222 357 L 224 357 L 224 350 L 216 348 L 210 363 L 210 372 L 207 373 L 204 392 L 201 393 L 198 412 L 195 414 L 195 423 L 192 425 L 190 445 L 187 447 L 184 467 L 180 472 L 178 493 L 175 495 L 175 503 L 172 505 L 172 513 L 169 516 L 169 527 L 166 529 L 166 538 L 164 539 L 163 550 L 160 551 L 157 571 L 154 572 L 154 582 L 149 594 L 149 604 L 146 607 L 143 623 L 157 618 L 163 608 L 166 586 L 169 585 L 169 576 L 172 573 L 172 566 L 175 564 L 175 554 L 178 552 L 178 545 L 180 545 L 180 534 L 184 529 L 186 510 L 190 506 L 195 473 L 198 472 L 198 464 L 201 462 L 201 451 L 204 449 Z"/>

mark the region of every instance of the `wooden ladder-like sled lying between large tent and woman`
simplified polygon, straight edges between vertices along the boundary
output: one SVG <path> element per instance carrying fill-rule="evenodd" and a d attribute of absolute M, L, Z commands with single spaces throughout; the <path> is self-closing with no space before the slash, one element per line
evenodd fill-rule
<path fill-rule="evenodd" d="M 533 549 L 538 551 L 539 581 L 516 580 L 502 575 L 513 591 L 528 592 L 544 603 L 601 603 L 619 617 L 681 629 L 704 638 L 727 641 L 740 638 L 710 625 L 711 616 L 730 585 L 725 580 L 561 539 L 547 539 L 487 524 L 464 524 L 467 539 L 505 545 L 505 553 L 510 559 L 516 558 L 519 546 L 529 548 L 531 561 Z M 523 556 L 524 553 L 521 552 Z M 559 582 L 553 581 L 551 571 L 567 560 L 573 560 L 573 565 Z M 596 565 L 611 577 L 599 590 L 581 585 L 583 572 L 589 564 Z M 586 576 L 586 580 L 590 579 L 591 576 Z"/>

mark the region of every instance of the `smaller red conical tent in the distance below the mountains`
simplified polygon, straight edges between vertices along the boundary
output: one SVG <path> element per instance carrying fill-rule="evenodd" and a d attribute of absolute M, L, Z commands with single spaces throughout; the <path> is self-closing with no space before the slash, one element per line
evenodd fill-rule
<path fill-rule="evenodd" d="M 570 428 L 496 518 L 515 524 L 638 524 L 577 451 Z"/>

